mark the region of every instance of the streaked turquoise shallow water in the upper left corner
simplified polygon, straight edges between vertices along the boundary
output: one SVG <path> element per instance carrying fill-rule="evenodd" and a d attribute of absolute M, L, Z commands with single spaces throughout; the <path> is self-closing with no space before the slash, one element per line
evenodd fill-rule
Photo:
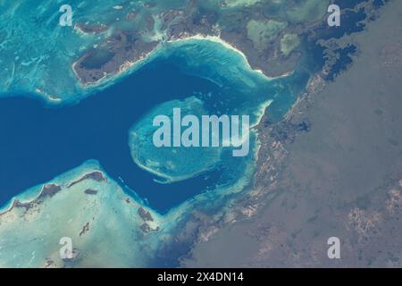
<path fill-rule="evenodd" d="M 189 0 L 165 1 L 69 1 L 73 23 L 105 25 L 98 34 L 83 33 L 77 26 L 62 27 L 59 8 L 65 4 L 56 1 L 2 1 L 0 3 L 0 90 L 36 93 L 49 104 L 77 103 L 83 97 L 96 93 L 99 86 L 82 88 L 71 64 L 86 51 L 102 46 L 116 30 L 136 30 L 146 42 L 161 40 L 166 27 L 161 27 L 161 14 L 169 9 L 185 9 Z M 219 1 L 199 2 L 198 5 L 216 13 L 221 11 Z M 135 13 L 134 20 L 127 15 Z M 153 19 L 155 27 L 147 29 Z M 102 82 L 113 84 L 115 77 Z M 51 100 L 49 100 L 51 99 Z"/>

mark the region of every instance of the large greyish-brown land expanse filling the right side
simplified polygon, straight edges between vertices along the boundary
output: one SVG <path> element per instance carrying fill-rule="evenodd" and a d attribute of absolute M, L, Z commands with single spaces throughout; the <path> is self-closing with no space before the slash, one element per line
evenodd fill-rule
<path fill-rule="evenodd" d="M 243 219 L 206 228 L 183 266 L 402 265 L 402 5 L 344 40 L 359 47 L 355 63 L 329 84 L 317 77 L 285 121 L 261 124 Z M 341 259 L 327 257 L 333 236 Z"/>

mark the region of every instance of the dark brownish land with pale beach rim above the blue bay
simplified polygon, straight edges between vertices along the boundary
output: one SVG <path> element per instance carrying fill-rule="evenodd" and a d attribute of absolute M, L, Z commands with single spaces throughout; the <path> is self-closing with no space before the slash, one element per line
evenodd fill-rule
<path fill-rule="evenodd" d="M 253 69 L 263 71 L 269 77 L 281 76 L 295 69 L 303 51 L 302 47 L 297 49 L 297 40 L 289 43 L 289 37 L 303 37 L 322 26 L 321 20 L 330 1 L 260 1 L 235 6 L 225 1 L 212 3 L 186 1 L 180 9 L 166 9 L 160 13 L 157 13 L 157 4 L 147 4 L 149 13 L 144 13 L 141 18 L 144 22 L 141 30 L 121 29 L 105 38 L 103 43 L 73 63 L 76 75 L 82 84 L 93 84 L 125 70 L 127 65 L 138 63 L 162 43 L 201 36 L 221 38 L 246 55 Z M 314 5 L 318 7 L 313 10 Z M 237 9 L 239 6 L 242 6 L 241 10 Z M 127 10 L 124 8 L 122 6 L 121 12 Z M 299 17 L 299 13 L 306 14 Z M 132 12 L 122 19 L 133 21 Z M 98 28 L 100 33 L 104 31 L 102 27 L 105 25 Z M 88 32 L 94 33 L 94 30 Z M 150 41 L 150 38 L 157 40 Z"/>

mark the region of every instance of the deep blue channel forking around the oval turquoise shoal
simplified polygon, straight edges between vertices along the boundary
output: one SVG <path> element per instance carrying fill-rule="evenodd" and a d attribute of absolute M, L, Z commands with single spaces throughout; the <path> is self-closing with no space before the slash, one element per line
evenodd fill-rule
<path fill-rule="evenodd" d="M 159 103 L 218 89 L 211 81 L 159 60 L 78 105 L 46 107 L 29 97 L 0 98 L 0 205 L 96 159 L 113 179 L 121 178 L 156 210 L 163 213 L 177 206 L 214 185 L 220 172 L 178 183 L 156 183 L 155 176 L 133 163 L 128 131 Z"/>

